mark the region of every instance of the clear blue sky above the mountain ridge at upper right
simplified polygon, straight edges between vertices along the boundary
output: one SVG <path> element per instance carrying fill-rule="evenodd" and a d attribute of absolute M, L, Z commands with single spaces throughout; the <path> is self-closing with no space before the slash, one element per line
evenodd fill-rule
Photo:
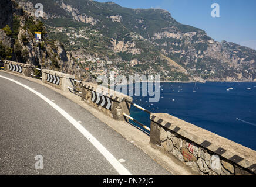
<path fill-rule="evenodd" d="M 106 0 L 96 0 L 107 2 Z M 109 0 L 127 8 L 161 8 L 178 22 L 198 27 L 216 41 L 232 41 L 256 49 L 255 0 Z M 211 17 L 211 4 L 220 5 L 220 18 Z"/>

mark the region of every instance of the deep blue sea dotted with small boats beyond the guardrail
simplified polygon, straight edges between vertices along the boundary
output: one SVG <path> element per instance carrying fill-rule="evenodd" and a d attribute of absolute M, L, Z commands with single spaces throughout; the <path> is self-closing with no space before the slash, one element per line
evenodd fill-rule
<path fill-rule="evenodd" d="M 159 102 L 149 103 L 149 96 L 133 96 L 133 102 L 256 150 L 256 82 L 164 82 L 160 86 Z M 132 106 L 130 116 L 150 127 L 146 112 Z"/>

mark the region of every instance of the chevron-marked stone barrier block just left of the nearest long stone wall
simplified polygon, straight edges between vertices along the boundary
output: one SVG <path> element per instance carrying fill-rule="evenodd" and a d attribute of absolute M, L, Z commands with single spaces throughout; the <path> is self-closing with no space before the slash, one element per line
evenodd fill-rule
<path fill-rule="evenodd" d="M 130 104 L 125 102 L 125 99 L 133 101 L 132 97 L 112 89 L 89 82 L 82 84 L 82 101 L 115 120 L 127 120 L 123 113 L 130 115 Z"/>

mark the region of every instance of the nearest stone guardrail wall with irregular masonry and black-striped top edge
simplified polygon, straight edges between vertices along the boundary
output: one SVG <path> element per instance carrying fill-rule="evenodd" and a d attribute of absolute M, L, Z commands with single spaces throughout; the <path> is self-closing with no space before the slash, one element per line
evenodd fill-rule
<path fill-rule="evenodd" d="M 150 143 L 199 174 L 256 174 L 256 151 L 167 113 L 152 113 L 150 120 Z"/>

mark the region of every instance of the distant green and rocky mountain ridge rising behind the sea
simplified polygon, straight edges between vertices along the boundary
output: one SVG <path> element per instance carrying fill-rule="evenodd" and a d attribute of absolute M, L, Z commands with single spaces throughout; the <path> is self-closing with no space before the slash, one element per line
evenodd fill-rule
<path fill-rule="evenodd" d="M 38 2 L 18 4 L 33 15 Z M 166 10 L 87 0 L 41 3 L 48 37 L 77 57 L 113 61 L 100 65 L 103 70 L 124 75 L 161 72 L 165 81 L 256 81 L 255 50 L 215 41 L 202 29 L 178 23 Z M 83 65 L 100 70 L 99 64 Z"/>

